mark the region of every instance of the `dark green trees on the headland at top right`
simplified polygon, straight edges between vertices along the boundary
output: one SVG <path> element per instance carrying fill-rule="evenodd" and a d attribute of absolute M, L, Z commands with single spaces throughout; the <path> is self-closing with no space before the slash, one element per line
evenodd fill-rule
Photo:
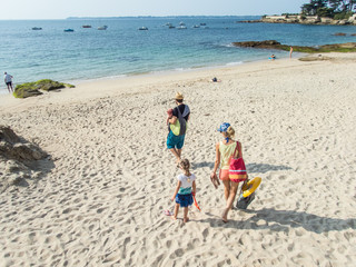
<path fill-rule="evenodd" d="M 301 14 L 348 19 L 356 10 L 356 0 L 310 0 L 301 6 Z"/>

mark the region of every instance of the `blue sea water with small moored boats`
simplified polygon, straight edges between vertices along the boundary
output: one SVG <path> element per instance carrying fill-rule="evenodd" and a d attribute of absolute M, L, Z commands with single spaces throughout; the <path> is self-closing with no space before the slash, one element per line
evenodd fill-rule
<path fill-rule="evenodd" d="M 66 82 L 239 65 L 288 52 L 233 47 L 277 40 L 291 46 L 356 41 L 354 26 L 239 23 L 259 17 L 132 17 L 0 21 L 0 71 L 14 83 Z M 82 26 L 91 28 L 82 28 Z M 98 27 L 107 26 L 106 30 Z M 170 27 L 169 27 L 170 26 Z M 179 26 L 181 26 L 180 29 Z M 32 30 L 33 27 L 42 30 Z M 139 30 L 147 27 L 148 30 Z M 72 29 L 65 32 L 65 29 Z M 334 33 L 345 32 L 346 37 Z M 0 91 L 6 91 L 1 82 Z"/>

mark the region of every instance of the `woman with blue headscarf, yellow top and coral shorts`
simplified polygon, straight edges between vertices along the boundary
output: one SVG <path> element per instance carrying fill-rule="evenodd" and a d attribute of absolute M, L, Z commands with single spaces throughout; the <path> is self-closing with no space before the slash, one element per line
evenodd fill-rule
<path fill-rule="evenodd" d="M 235 155 L 236 157 L 238 156 L 243 158 L 241 144 L 233 139 L 235 137 L 235 130 L 228 122 L 221 123 L 218 131 L 221 134 L 221 137 L 224 138 L 224 140 L 217 142 L 215 146 L 216 159 L 215 159 L 214 170 L 210 175 L 210 179 L 214 185 L 218 182 L 216 171 L 220 166 L 219 179 L 224 184 L 224 195 L 226 199 L 226 208 L 222 212 L 222 221 L 227 222 L 227 214 L 233 207 L 236 192 L 238 189 L 238 185 L 240 181 L 246 180 L 247 177 L 241 179 L 229 178 L 230 159 L 234 156 L 235 151 L 237 151 L 237 154 Z"/>

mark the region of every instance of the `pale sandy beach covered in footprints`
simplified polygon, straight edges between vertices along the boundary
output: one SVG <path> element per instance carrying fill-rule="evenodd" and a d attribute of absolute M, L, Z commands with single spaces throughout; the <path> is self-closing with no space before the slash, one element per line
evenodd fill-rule
<path fill-rule="evenodd" d="M 355 266 L 356 53 L 327 57 L 0 96 L 0 125 L 50 155 L 0 194 L 0 266 Z M 187 224 L 164 214 L 180 174 L 166 148 L 177 91 L 191 109 L 182 156 L 201 207 Z M 263 178 L 228 224 L 209 179 L 224 121 Z"/>

